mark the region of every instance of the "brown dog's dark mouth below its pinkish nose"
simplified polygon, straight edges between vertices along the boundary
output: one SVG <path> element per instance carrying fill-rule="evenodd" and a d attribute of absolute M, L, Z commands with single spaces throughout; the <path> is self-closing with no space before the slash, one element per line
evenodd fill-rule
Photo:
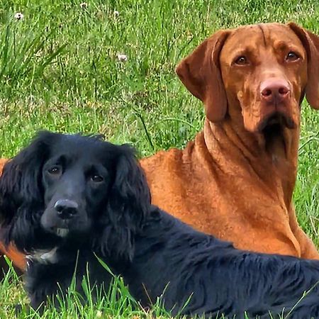
<path fill-rule="evenodd" d="M 276 129 L 281 131 L 283 128 L 293 129 L 296 128 L 296 123 L 293 119 L 286 114 L 275 112 L 265 117 L 258 125 L 259 132 L 267 133 L 269 130 Z"/>

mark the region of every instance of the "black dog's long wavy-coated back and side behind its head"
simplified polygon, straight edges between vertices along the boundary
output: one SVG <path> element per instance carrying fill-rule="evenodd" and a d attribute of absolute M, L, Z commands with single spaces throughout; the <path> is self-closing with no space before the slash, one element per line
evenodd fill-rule
<path fill-rule="evenodd" d="M 236 250 L 164 211 L 155 208 L 151 216 L 123 274 L 143 303 L 150 297 L 155 302 L 164 291 L 164 305 L 173 314 L 186 305 L 182 313 L 212 318 L 278 318 L 291 310 L 289 318 L 319 318 L 318 261 Z"/>

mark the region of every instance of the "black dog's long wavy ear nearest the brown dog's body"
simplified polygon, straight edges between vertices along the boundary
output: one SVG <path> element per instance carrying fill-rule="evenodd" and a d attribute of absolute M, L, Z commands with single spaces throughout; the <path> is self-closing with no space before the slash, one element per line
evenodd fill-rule
<path fill-rule="evenodd" d="M 103 215 L 102 254 L 130 261 L 134 253 L 134 235 L 150 211 L 150 189 L 135 151 L 128 145 L 118 146 L 113 185 L 108 193 Z"/>

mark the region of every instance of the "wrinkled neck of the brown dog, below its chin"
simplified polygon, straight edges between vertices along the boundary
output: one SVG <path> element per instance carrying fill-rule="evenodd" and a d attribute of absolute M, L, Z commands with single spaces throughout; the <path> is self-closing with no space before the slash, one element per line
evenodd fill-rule
<path fill-rule="evenodd" d="M 269 188 L 279 187 L 286 206 L 291 205 L 297 173 L 298 129 L 284 128 L 281 135 L 265 137 L 248 132 L 238 121 L 234 125 L 228 117 L 222 123 L 211 123 L 206 119 L 203 135 L 215 161 L 224 157 L 221 164 L 252 167 L 254 174 Z"/>

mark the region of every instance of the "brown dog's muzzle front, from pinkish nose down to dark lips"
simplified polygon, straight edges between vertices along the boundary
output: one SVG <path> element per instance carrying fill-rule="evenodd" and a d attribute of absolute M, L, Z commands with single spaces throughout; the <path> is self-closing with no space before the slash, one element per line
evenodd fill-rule
<path fill-rule="evenodd" d="M 291 86 L 281 78 L 270 78 L 260 84 L 260 122 L 259 131 L 267 125 L 279 124 L 286 128 L 296 128 L 297 118 L 293 108 L 297 101 L 291 99 Z"/>

